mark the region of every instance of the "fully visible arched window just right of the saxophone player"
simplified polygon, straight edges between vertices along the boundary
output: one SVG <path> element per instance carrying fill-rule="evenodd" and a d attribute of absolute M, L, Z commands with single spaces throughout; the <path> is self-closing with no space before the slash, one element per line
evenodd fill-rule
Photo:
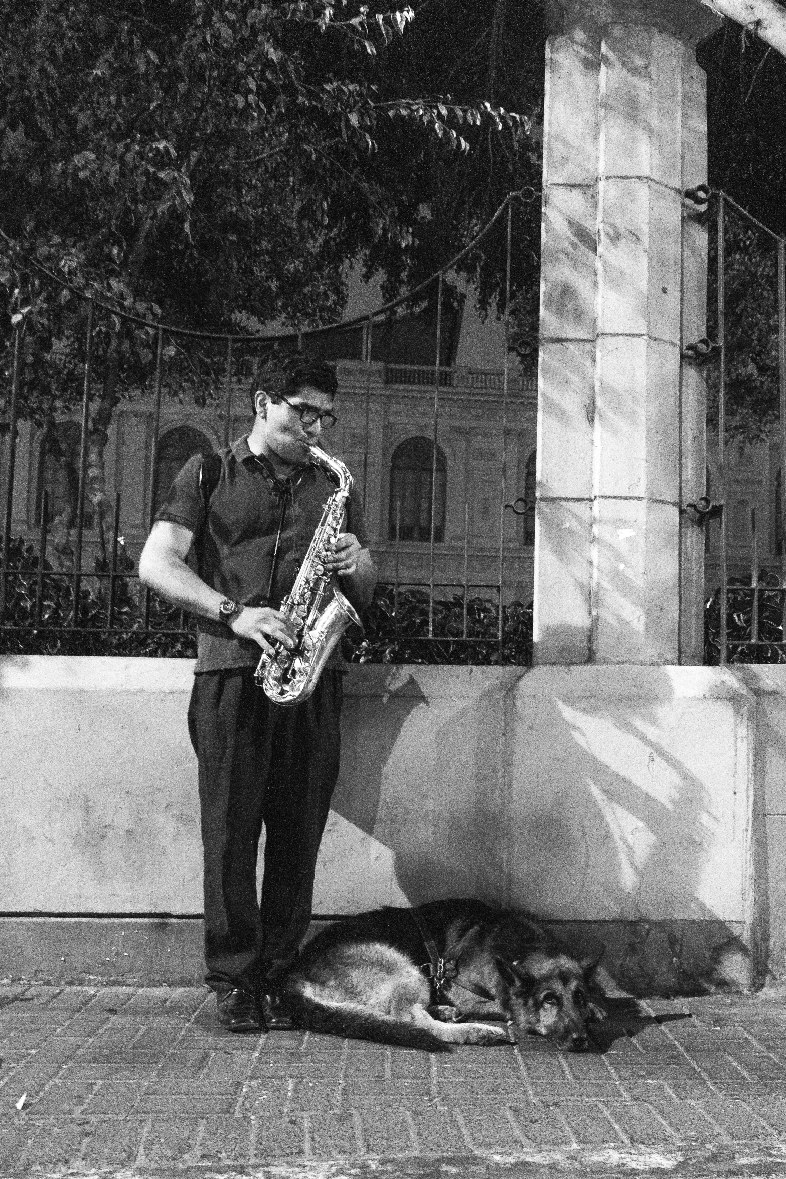
<path fill-rule="evenodd" d="M 407 439 L 394 450 L 390 462 L 390 509 L 388 514 L 390 540 L 396 539 L 396 508 L 398 506 L 401 540 L 431 540 L 431 479 L 434 474 L 434 442 L 430 439 Z M 434 513 L 434 539 L 444 540 L 447 465 L 437 447 L 437 482 Z"/>

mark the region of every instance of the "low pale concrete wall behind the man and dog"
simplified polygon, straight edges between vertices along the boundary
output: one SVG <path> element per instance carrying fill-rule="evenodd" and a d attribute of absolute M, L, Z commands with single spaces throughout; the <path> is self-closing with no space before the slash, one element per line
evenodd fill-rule
<path fill-rule="evenodd" d="M 196 969 L 153 920 L 202 910 L 191 676 L 0 659 L 0 971 L 105 974 L 87 928 L 111 974 L 146 938 Z M 786 962 L 786 668 L 354 667 L 342 740 L 317 914 L 477 895 L 606 943 L 629 989 Z"/>

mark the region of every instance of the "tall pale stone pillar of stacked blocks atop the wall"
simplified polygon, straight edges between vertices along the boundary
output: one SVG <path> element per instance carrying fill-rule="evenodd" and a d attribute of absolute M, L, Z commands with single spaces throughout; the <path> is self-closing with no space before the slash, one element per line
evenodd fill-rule
<path fill-rule="evenodd" d="M 679 507 L 704 390 L 680 344 L 705 334 L 706 237 L 683 249 L 681 193 L 706 179 L 695 44 L 716 19 L 698 0 L 547 12 L 535 661 L 676 664 L 681 639 L 696 661 L 704 553 Z"/>

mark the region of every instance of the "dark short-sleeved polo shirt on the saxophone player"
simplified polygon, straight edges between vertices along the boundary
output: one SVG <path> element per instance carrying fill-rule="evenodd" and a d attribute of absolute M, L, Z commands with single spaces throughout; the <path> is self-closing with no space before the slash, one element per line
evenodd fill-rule
<path fill-rule="evenodd" d="M 247 439 L 218 452 L 222 467 L 218 483 L 205 506 L 200 482 L 203 456 L 194 454 L 174 476 L 156 519 L 180 523 L 194 534 L 197 573 L 206 585 L 246 606 L 278 608 L 295 584 L 328 496 L 336 485 L 311 465 L 277 479 L 262 455 L 253 455 Z M 270 599 L 267 586 L 282 520 L 282 538 Z M 354 533 L 363 548 L 368 532 L 355 488 L 346 501 L 344 532 Z M 341 585 L 333 579 L 333 586 Z M 332 588 L 322 600 L 330 599 Z M 197 618 L 197 666 L 194 671 L 249 667 L 259 663 L 262 648 L 237 638 L 223 623 Z M 341 645 L 333 648 L 329 667 L 344 667 Z"/>

